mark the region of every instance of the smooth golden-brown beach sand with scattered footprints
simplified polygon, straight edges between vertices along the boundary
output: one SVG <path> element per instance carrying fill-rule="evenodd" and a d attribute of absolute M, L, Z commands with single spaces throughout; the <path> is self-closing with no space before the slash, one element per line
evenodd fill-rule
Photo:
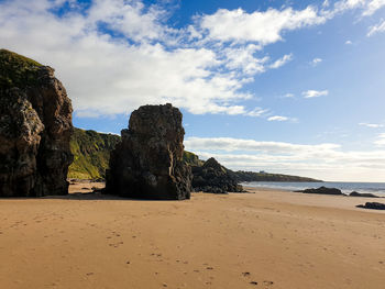
<path fill-rule="evenodd" d="M 354 208 L 371 200 L 2 199 L 0 288 L 385 288 L 385 213 Z"/>

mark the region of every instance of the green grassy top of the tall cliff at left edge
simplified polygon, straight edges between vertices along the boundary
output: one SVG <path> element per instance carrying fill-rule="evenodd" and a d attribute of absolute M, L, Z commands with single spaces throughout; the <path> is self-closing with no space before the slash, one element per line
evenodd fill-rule
<path fill-rule="evenodd" d="M 16 53 L 0 49 L 0 89 L 25 88 L 37 82 L 40 63 Z"/>

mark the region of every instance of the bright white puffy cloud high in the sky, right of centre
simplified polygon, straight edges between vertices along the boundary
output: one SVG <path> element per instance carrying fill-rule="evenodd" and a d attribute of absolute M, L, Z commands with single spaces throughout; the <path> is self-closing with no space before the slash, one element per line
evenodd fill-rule
<path fill-rule="evenodd" d="M 282 40 L 284 31 L 324 23 L 314 7 L 304 10 L 268 9 L 248 13 L 242 9 L 219 9 L 211 15 L 198 18 L 200 27 L 210 40 L 221 42 L 256 42 L 262 45 Z"/>

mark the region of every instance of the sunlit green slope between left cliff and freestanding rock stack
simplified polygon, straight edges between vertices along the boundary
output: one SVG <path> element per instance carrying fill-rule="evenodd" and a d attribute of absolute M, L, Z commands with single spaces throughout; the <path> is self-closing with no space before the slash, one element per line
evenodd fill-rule
<path fill-rule="evenodd" d="M 68 178 L 105 178 L 110 152 L 118 142 L 120 142 L 119 135 L 74 129 L 70 141 L 74 163 L 69 166 Z"/>

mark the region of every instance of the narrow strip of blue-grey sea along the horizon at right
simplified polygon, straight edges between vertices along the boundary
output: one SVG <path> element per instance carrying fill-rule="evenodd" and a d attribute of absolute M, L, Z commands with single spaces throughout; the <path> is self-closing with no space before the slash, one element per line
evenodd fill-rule
<path fill-rule="evenodd" d="M 322 181 L 322 182 L 289 182 L 289 181 L 248 181 L 242 182 L 242 186 L 252 188 L 271 188 L 286 191 L 305 190 L 305 189 L 316 189 L 321 186 L 327 188 L 340 189 L 343 193 L 350 193 L 352 191 L 358 192 L 370 192 L 377 194 L 380 197 L 385 197 L 385 182 L 333 182 L 333 181 Z"/>

